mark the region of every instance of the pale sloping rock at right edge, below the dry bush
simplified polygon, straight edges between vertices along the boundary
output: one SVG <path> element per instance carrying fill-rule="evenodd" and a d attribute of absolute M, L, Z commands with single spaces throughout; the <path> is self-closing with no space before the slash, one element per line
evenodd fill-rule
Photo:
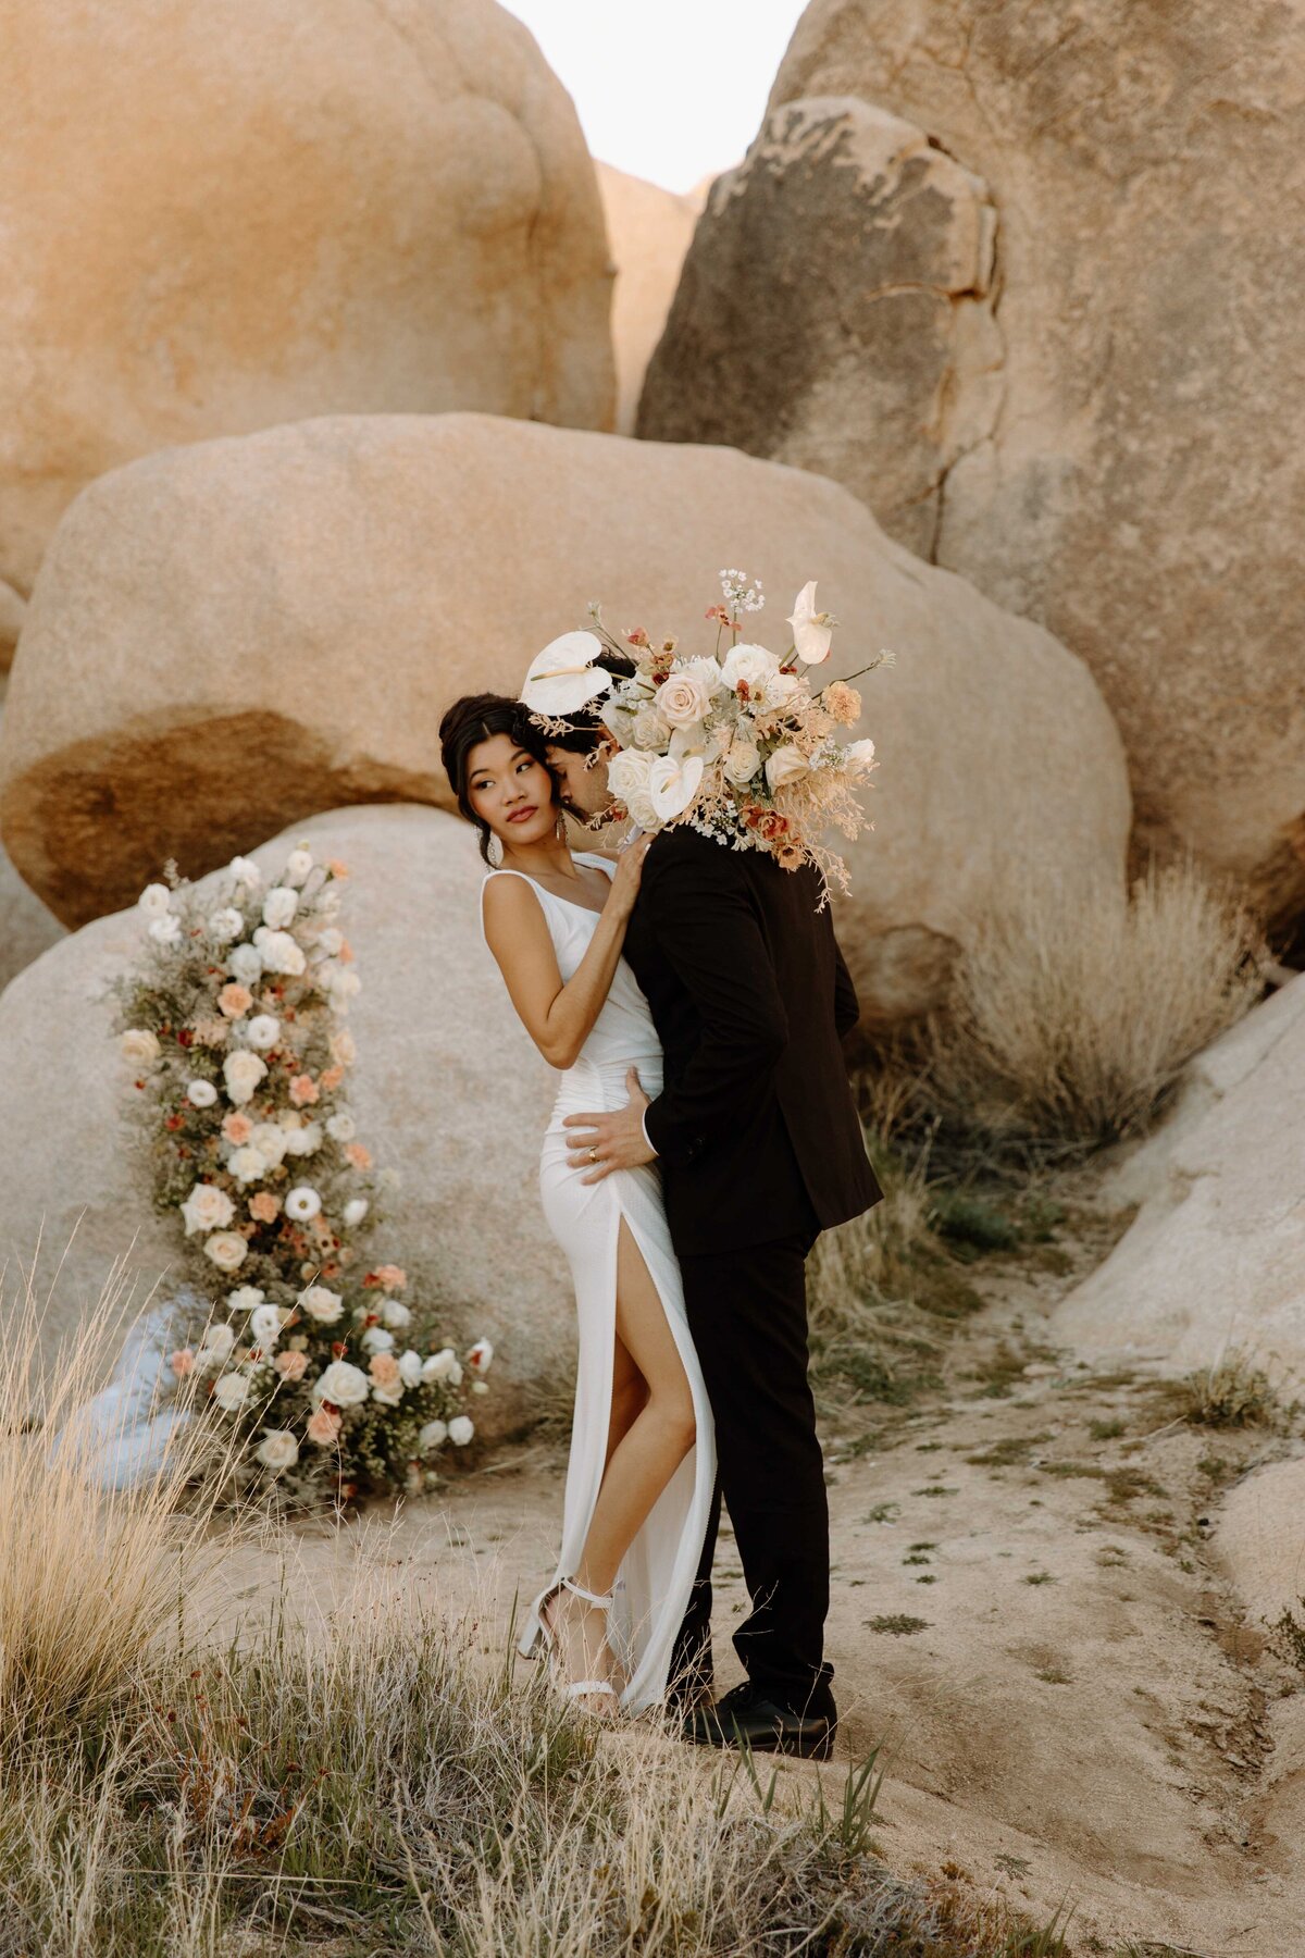
<path fill-rule="evenodd" d="M 1125 1165 L 1141 1210 L 1058 1306 L 1057 1337 L 1190 1373 L 1238 1351 L 1305 1386 L 1305 977 L 1188 1069 L 1170 1120 Z"/>

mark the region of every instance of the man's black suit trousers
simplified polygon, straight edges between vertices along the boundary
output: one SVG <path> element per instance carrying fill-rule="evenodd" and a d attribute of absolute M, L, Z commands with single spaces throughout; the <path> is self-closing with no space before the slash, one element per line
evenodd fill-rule
<path fill-rule="evenodd" d="M 804 1265 L 814 1239 L 812 1218 L 792 1237 L 679 1261 L 716 1423 L 718 1486 L 671 1678 L 710 1686 L 710 1570 L 724 1490 L 751 1598 L 751 1615 L 734 1633 L 747 1678 L 783 1705 L 828 1713 L 830 1506 L 806 1378 Z"/>

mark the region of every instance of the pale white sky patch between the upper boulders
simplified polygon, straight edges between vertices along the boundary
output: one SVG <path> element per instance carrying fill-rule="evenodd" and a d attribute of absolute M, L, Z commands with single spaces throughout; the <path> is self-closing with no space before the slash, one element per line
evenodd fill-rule
<path fill-rule="evenodd" d="M 503 0 L 595 157 L 667 190 L 728 170 L 761 125 L 804 0 Z"/>

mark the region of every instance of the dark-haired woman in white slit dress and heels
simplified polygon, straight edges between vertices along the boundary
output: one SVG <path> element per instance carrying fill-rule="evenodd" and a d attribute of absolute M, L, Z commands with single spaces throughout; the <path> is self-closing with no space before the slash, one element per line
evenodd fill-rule
<path fill-rule="evenodd" d="M 648 1001 L 620 956 L 652 838 L 571 852 L 554 777 L 518 701 L 448 709 L 440 748 L 479 830 L 481 924 L 526 1032 L 562 1069 L 540 1192 L 575 1281 L 579 1373 L 562 1557 L 520 1651 L 605 1719 L 663 1700 L 706 1533 L 716 1459 L 655 1165 L 593 1179 L 563 1116 L 661 1089 Z M 589 1151 L 591 1155 L 595 1151 Z"/>

